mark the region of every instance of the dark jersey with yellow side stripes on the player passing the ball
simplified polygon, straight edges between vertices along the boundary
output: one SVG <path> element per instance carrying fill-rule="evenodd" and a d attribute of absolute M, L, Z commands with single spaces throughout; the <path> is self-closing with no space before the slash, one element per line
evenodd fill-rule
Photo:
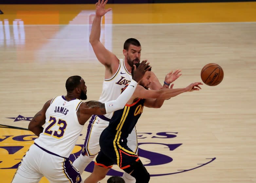
<path fill-rule="evenodd" d="M 120 131 L 121 136 L 127 138 L 143 112 L 144 101 L 145 99 L 139 98 L 133 104 L 126 104 L 123 109 L 115 111 L 107 129 Z"/>

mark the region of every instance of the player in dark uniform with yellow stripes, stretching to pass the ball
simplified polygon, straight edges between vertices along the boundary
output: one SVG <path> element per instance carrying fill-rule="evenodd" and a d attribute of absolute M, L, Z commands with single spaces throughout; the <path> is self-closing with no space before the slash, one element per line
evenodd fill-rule
<path fill-rule="evenodd" d="M 138 82 L 137 88 L 123 109 L 114 112 L 109 125 L 100 136 L 101 150 L 96 157 L 93 173 L 84 181 L 97 183 L 117 164 L 120 169 L 130 174 L 136 182 L 149 182 L 150 175 L 142 162 L 127 146 L 127 137 L 136 125 L 143 107 L 158 108 L 157 100 L 174 97 L 183 92 L 199 91 L 201 82 L 192 83 L 186 88 L 148 90 L 151 84 L 151 69 Z M 125 91 L 124 88 L 123 91 Z"/>

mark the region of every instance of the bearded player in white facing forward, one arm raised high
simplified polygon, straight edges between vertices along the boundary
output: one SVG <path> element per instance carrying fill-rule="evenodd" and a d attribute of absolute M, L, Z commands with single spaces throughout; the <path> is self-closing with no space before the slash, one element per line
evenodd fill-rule
<path fill-rule="evenodd" d="M 96 3 L 96 16 L 91 28 L 90 43 L 98 60 L 105 66 L 105 77 L 103 81 L 102 94 L 99 101 L 105 102 L 115 100 L 121 93 L 121 89 L 131 81 L 131 70 L 133 64 L 139 63 L 141 46 L 138 40 L 130 38 L 124 42 L 123 55 L 124 59 L 118 59 L 116 55 L 107 50 L 100 42 L 101 34 L 101 17 L 111 10 L 105 10 L 107 0 Z M 158 90 L 161 87 L 168 88 L 170 83 L 175 81 L 181 74 L 181 70 L 169 73 L 165 77 L 165 84 L 162 86 L 154 73 L 152 73 L 151 89 Z M 161 101 L 160 101 L 161 102 Z M 106 115 L 93 115 L 87 129 L 84 146 L 81 155 L 73 162 L 82 175 L 85 167 L 93 160 L 100 151 L 99 138 L 101 132 L 108 126 L 113 113 Z M 136 128 L 131 131 L 128 137 L 128 146 L 136 154 L 138 150 Z M 128 179 L 134 179 L 129 175 L 123 175 L 126 183 L 130 183 Z"/>

